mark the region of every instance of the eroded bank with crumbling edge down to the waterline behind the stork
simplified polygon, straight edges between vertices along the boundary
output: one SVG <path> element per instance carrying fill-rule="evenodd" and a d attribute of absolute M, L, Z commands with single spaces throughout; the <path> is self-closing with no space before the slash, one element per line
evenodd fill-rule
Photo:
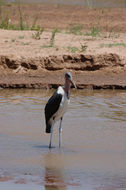
<path fill-rule="evenodd" d="M 57 88 L 71 71 L 78 89 L 126 89 L 126 60 L 117 54 L 0 56 L 1 88 Z"/>

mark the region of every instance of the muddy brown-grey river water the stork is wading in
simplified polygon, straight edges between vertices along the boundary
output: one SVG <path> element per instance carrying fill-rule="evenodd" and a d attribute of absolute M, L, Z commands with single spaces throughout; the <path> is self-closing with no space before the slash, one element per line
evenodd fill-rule
<path fill-rule="evenodd" d="M 0 187 L 126 189 L 126 91 L 72 91 L 62 148 L 57 123 L 49 150 L 44 105 L 51 94 L 0 90 Z"/>

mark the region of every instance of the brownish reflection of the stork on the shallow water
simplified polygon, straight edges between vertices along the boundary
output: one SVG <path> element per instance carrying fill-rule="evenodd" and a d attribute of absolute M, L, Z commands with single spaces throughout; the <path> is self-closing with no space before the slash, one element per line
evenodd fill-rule
<path fill-rule="evenodd" d="M 64 161 L 61 154 L 45 155 L 45 190 L 66 190 L 63 171 Z"/>

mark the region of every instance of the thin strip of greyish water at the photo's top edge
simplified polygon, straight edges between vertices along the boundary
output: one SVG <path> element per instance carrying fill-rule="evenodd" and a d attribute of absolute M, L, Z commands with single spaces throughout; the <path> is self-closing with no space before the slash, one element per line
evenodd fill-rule
<path fill-rule="evenodd" d="M 6 2 L 17 2 L 17 0 L 6 0 Z M 26 0 L 20 0 L 20 2 L 26 2 Z M 79 6 L 82 5 L 89 8 L 126 7 L 125 0 L 27 0 L 27 3 L 51 3 Z"/>

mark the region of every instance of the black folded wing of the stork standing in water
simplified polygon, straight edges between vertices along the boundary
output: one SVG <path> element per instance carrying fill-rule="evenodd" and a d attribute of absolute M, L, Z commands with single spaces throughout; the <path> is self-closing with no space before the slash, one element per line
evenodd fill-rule
<path fill-rule="evenodd" d="M 61 100 L 62 95 L 55 92 L 45 106 L 46 133 L 50 133 L 51 124 L 49 120 L 58 111 Z"/>

